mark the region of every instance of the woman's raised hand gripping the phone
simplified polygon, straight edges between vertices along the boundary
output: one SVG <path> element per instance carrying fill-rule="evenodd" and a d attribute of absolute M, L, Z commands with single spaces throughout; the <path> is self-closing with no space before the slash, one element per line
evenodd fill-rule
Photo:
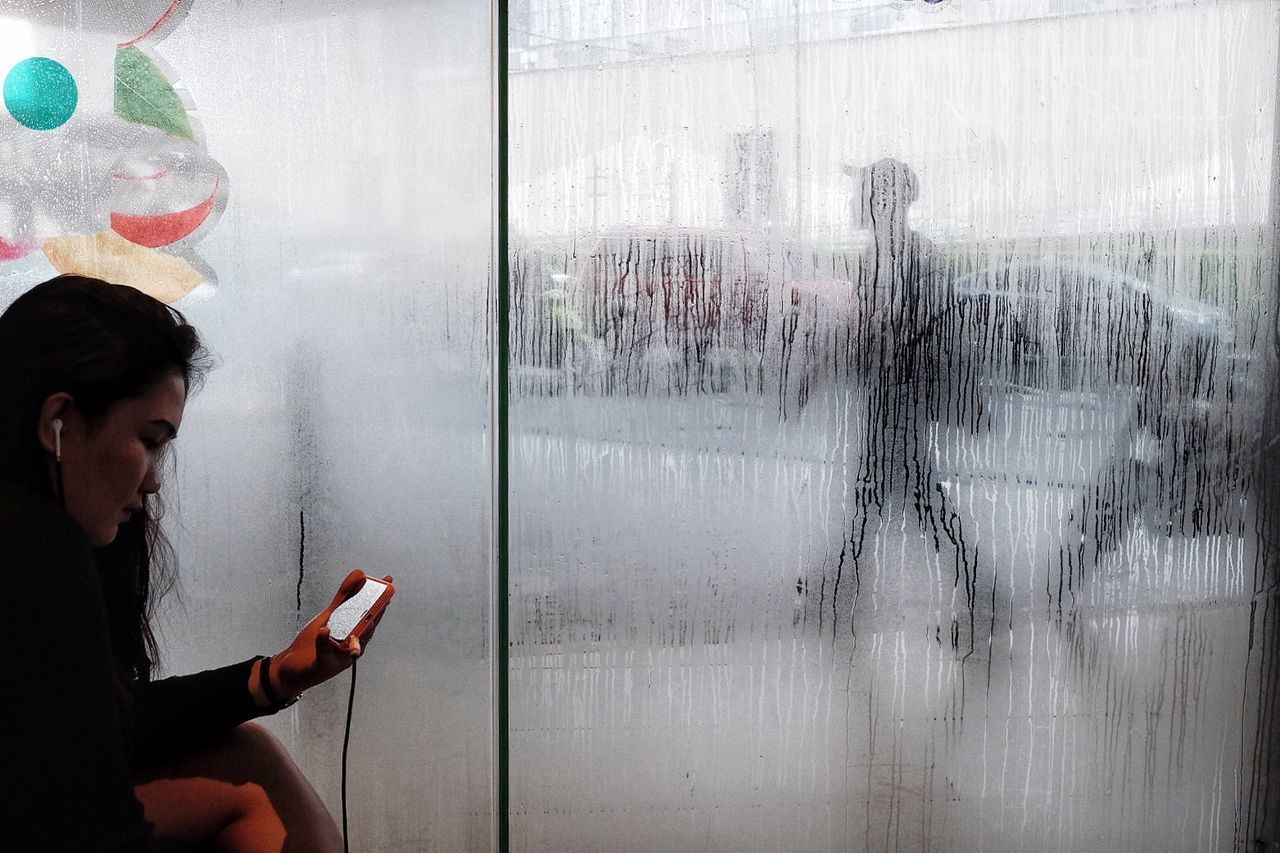
<path fill-rule="evenodd" d="M 362 637 L 352 634 L 340 643 L 329 639 L 329 615 L 338 605 L 356 594 L 365 583 L 365 573 L 360 569 L 352 570 L 338 587 L 338 594 L 333 597 L 329 606 L 306 624 L 287 649 L 271 656 L 270 679 L 278 697 L 291 699 L 306 689 L 328 681 L 349 667 L 352 661 L 364 653 L 365 646 L 374 638 L 374 630 L 383 615 L 378 615 L 378 619 Z M 385 580 L 390 583 L 392 576 L 387 575 Z M 253 667 L 252 680 L 253 686 L 257 688 L 253 690 L 253 695 L 261 695 L 259 704 L 268 707 L 270 702 L 259 681 L 260 669 L 260 666 Z"/>

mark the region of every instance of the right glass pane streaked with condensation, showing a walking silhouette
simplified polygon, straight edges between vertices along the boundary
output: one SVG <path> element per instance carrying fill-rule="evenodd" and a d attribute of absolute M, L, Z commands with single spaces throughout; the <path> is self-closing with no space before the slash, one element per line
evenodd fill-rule
<path fill-rule="evenodd" d="M 512 4 L 512 849 L 1280 841 L 1277 13 Z"/>

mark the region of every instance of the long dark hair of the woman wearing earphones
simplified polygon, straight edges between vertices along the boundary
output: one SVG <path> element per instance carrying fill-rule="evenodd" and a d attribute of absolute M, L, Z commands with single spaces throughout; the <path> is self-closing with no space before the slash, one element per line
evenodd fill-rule
<path fill-rule="evenodd" d="M 92 424 L 174 371 L 189 393 L 207 359 L 187 319 L 141 291 L 81 275 L 37 284 L 0 315 L 0 480 L 55 497 L 36 435 L 50 394 L 69 393 Z M 174 583 L 161 514 L 156 496 L 147 496 L 142 512 L 97 549 L 111 644 L 134 679 L 148 679 L 159 660 L 151 619 Z"/>

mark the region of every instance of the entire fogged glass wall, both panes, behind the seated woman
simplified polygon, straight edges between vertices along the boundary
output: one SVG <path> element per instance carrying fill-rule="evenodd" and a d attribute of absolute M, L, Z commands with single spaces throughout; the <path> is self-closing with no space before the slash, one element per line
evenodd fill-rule
<path fill-rule="evenodd" d="M 0 0 L 0 302 L 221 360 L 166 669 L 396 575 L 352 847 L 488 849 L 497 488 L 515 850 L 1280 844 L 1280 3 L 508 5 Z"/>

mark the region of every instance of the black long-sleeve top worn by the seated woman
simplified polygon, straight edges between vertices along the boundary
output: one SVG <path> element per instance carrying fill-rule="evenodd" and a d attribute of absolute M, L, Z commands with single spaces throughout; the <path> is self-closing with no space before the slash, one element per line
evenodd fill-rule
<path fill-rule="evenodd" d="M 151 848 L 138 767 L 265 713 L 253 661 L 119 675 L 93 549 L 47 498 L 0 484 L 0 838 L 13 850 Z"/>

